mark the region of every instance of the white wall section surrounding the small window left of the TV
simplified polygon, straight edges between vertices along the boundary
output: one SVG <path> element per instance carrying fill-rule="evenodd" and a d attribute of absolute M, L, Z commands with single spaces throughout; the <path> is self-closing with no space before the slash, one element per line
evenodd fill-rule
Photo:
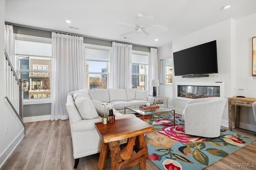
<path fill-rule="evenodd" d="M 160 77 L 161 77 L 161 75 L 160 75 L 160 59 L 166 59 L 166 58 L 170 58 L 172 56 L 173 56 L 172 55 L 172 42 L 157 49 L 159 81 L 160 81 Z M 168 107 L 172 108 L 172 96 L 173 96 L 172 95 L 172 85 L 160 84 L 160 86 L 158 87 L 158 95 L 169 97 Z M 166 103 L 164 103 L 164 105 L 166 105 Z"/>

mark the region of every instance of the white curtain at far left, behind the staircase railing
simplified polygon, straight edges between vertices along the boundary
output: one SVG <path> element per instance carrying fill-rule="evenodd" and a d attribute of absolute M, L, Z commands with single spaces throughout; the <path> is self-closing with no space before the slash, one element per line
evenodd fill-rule
<path fill-rule="evenodd" d="M 14 67 L 16 73 L 17 73 L 17 60 L 14 55 L 14 36 L 13 36 L 13 27 L 10 25 L 5 25 L 4 30 L 4 48 L 6 49 L 7 54 L 10 57 L 10 60 L 12 62 L 12 66 Z"/>

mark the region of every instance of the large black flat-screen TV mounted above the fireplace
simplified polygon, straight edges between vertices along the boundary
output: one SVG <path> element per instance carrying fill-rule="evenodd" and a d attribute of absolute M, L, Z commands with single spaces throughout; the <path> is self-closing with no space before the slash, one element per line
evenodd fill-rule
<path fill-rule="evenodd" d="M 218 73 L 216 40 L 173 53 L 174 75 Z"/>

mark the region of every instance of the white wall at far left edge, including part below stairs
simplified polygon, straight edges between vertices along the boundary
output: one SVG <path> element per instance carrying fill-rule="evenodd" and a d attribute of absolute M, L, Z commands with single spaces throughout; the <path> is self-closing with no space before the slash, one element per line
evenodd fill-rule
<path fill-rule="evenodd" d="M 4 9 L 5 1 L 0 0 L 0 79 L 5 80 L 4 71 Z M 2 81 L 5 82 L 5 81 Z M 5 97 L 5 83 L 0 83 L 0 167 L 8 158 L 9 154 L 20 142 L 24 136 L 24 129 L 21 123 L 14 116 L 8 106 L 8 103 L 4 101 Z M 5 128 L 8 128 L 7 134 L 5 134 Z"/>

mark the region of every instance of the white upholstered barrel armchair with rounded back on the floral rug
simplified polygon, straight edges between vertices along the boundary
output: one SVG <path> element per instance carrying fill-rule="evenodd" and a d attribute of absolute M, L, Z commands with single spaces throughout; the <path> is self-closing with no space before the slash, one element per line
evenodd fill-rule
<path fill-rule="evenodd" d="M 209 138 L 220 136 L 220 123 L 225 104 L 224 97 L 188 101 L 182 114 L 185 133 Z"/>

